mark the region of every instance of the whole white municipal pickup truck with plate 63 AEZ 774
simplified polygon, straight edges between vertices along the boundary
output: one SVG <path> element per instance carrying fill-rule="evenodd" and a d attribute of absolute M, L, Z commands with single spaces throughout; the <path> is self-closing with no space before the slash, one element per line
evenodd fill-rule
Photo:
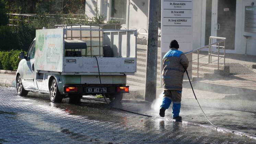
<path fill-rule="evenodd" d="M 120 101 L 126 75 L 136 72 L 137 31 L 92 26 L 39 29 L 16 73 L 17 93 L 50 95 L 52 102 L 104 94 Z"/>

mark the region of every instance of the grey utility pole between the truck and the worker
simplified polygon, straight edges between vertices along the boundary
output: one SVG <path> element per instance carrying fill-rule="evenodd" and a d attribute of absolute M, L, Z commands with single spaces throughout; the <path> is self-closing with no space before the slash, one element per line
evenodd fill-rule
<path fill-rule="evenodd" d="M 149 0 L 147 69 L 144 100 L 153 102 L 156 98 L 156 72 L 158 49 L 158 0 Z"/>

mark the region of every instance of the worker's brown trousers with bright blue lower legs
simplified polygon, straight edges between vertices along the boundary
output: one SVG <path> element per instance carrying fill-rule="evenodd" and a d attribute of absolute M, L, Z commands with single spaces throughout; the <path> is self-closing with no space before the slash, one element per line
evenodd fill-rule
<path fill-rule="evenodd" d="M 181 109 L 181 91 L 177 90 L 165 90 L 164 91 L 164 98 L 162 101 L 162 105 L 164 109 L 168 109 L 173 102 L 173 117 L 179 116 L 179 111 Z"/>

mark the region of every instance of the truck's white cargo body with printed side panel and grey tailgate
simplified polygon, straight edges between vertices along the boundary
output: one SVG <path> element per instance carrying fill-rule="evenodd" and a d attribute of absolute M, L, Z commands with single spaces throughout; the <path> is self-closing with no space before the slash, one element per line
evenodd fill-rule
<path fill-rule="evenodd" d="M 98 66 L 95 57 L 65 56 L 66 31 L 71 30 L 64 28 L 36 30 L 36 70 L 42 73 L 60 72 L 64 75 L 97 75 Z M 83 29 L 83 31 L 90 31 L 90 29 Z M 103 45 L 112 46 L 113 50 L 113 57 L 102 57 L 100 50 L 97 51 L 99 53 L 94 52 L 94 55 L 98 56 L 101 75 L 134 74 L 136 72 L 135 32 L 101 32 L 104 38 Z M 90 45 L 87 45 L 87 49 L 90 49 Z"/>

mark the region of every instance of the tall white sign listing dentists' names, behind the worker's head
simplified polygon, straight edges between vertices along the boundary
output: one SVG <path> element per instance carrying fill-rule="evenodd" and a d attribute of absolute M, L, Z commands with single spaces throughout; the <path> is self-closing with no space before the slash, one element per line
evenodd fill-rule
<path fill-rule="evenodd" d="M 161 49 L 169 51 L 171 40 L 176 39 L 179 50 L 193 50 L 193 1 L 162 0 Z"/>

